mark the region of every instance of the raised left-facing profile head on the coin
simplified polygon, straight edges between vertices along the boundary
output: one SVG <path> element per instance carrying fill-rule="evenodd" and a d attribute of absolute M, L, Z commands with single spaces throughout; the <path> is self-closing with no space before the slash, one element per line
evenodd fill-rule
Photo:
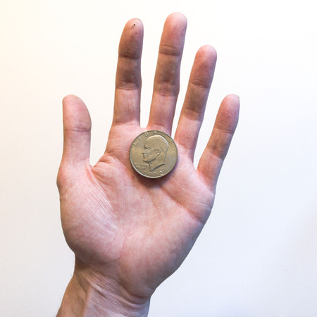
<path fill-rule="evenodd" d="M 149 170 L 165 165 L 168 142 L 161 135 L 153 135 L 147 139 L 142 151 L 143 161 L 149 164 Z"/>

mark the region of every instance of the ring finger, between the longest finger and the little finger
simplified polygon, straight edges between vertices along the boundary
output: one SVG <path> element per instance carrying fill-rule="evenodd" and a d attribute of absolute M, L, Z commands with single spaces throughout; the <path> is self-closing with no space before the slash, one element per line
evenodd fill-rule
<path fill-rule="evenodd" d="M 216 51 L 211 46 L 202 46 L 197 51 L 175 133 L 175 141 L 185 149 L 192 160 L 194 159 L 201 123 L 204 119 L 216 59 Z"/>

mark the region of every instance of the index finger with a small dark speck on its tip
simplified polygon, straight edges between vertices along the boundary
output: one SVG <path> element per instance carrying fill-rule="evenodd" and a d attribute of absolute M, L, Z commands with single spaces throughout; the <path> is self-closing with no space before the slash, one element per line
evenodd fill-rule
<path fill-rule="evenodd" d="M 113 125 L 139 124 L 142 43 L 142 21 L 129 20 L 119 44 Z"/>

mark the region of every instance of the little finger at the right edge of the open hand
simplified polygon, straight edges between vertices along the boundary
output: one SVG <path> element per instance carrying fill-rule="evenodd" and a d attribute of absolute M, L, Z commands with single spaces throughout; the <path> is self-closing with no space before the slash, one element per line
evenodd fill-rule
<path fill-rule="evenodd" d="M 240 100 L 236 95 L 231 94 L 223 99 L 211 137 L 198 164 L 198 173 L 213 191 L 216 190 L 220 169 L 237 127 L 239 108 Z"/>

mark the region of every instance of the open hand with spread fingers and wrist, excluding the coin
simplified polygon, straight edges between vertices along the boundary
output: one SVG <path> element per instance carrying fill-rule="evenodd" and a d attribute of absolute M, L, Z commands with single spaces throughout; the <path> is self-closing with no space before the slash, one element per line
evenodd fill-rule
<path fill-rule="evenodd" d="M 166 20 L 149 123 L 141 128 L 143 26 L 137 19 L 125 25 L 113 123 L 106 151 L 95 166 L 89 165 L 89 112 L 75 96 L 63 100 L 58 189 L 63 232 L 75 252 L 75 273 L 60 314 L 146 315 L 154 290 L 184 261 L 209 217 L 239 112 L 239 99 L 225 97 L 195 170 L 194 151 L 216 64 L 211 46 L 201 47 L 194 59 L 174 137 L 178 146 L 174 170 L 163 178 L 148 179 L 135 172 L 129 159 L 130 144 L 140 133 L 161 130 L 170 135 L 186 26 L 180 13 Z"/>

